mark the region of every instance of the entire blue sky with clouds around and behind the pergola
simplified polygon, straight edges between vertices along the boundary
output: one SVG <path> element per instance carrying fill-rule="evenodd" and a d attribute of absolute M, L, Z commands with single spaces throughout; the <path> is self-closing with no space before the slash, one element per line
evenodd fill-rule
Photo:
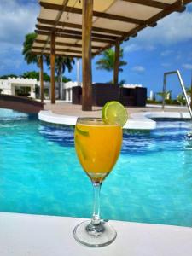
<path fill-rule="evenodd" d="M 39 14 L 38 0 L 0 0 L 0 76 L 9 73 L 20 75 L 36 70 L 35 65 L 27 65 L 22 55 L 25 35 L 35 29 Z M 119 81 L 126 84 L 142 84 L 159 92 L 162 90 L 163 74 L 179 70 L 184 84 L 189 87 L 192 79 L 192 3 L 183 13 L 173 13 L 158 21 L 157 26 L 147 27 L 138 32 L 136 38 L 121 44 L 127 65 L 119 73 Z M 93 82 L 109 82 L 113 73 L 96 69 L 96 56 L 92 61 Z M 49 69 L 45 67 L 45 72 Z M 76 80 L 76 66 L 65 76 Z M 181 93 L 176 75 L 167 79 L 167 90 L 172 97 Z"/>

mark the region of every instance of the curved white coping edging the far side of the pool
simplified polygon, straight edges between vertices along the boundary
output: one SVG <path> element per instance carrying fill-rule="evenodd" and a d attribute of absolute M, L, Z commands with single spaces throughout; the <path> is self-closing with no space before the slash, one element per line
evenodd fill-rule
<path fill-rule="evenodd" d="M 141 112 L 131 113 L 130 119 L 124 126 L 124 129 L 131 130 L 153 130 L 156 128 L 154 118 L 169 119 L 190 119 L 189 113 L 186 112 Z M 53 113 L 50 110 L 40 111 L 38 119 L 56 125 L 75 125 L 77 117 L 59 113 Z"/>

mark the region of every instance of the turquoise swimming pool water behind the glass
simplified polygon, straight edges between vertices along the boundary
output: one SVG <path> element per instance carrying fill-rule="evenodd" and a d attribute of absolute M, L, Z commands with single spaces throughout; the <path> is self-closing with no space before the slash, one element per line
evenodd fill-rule
<path fill-rule="evenodd" d="M 0 119 L 0 211 L 90 218 L 92 188 L 73 128 L 2 109 Z M 102 185 L 102 218 L 192 226 L 191 129 L 160 121 L 155 131 L 126 132 Z"/>

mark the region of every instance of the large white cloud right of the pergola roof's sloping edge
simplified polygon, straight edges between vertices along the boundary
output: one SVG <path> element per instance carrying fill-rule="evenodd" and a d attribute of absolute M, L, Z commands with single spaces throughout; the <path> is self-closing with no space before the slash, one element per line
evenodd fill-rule
<path fill-rule="evenodd" d="M 189 11 L 168 15 L 158 21 L 157 26 L 138 32 L 137 38 L 125 43 L 125 52 L 170 46 L 186 40 L 192 40 L 192 14 Z"/>

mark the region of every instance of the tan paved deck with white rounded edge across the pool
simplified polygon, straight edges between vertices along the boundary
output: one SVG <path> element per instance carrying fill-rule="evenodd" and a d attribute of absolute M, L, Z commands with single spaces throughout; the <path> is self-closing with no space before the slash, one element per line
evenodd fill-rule
<path fill-rule="evenodd" d="M 156 122 L 151 118 L 173 118 L 189 119 L 188 108 L 166 107 L 162 111 L 160 106 L 149 105 L 145 108 L 127 108 L 130 118 L 125 124 L 125 129 L 131 130 L 153 130 Z M 80 105 L 67 102 L 56 102 L 50 104 L 45 102 L 44 111 L 38 114 L 41 121 L 57 125 L 75 125 L 78 117 L 102 117 L 102 108 L 93 107 L 92 111 L 82 111 Z"/>

